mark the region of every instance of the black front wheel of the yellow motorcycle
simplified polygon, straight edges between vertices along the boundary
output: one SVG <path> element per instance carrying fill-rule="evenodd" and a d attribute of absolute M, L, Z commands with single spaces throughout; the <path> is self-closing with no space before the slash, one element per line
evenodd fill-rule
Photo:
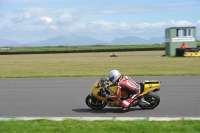
<path fill-rule="evenodd" d="M 88 95 L 85 98 L 85 103 L 91 109 L 103 109 L 107 105 L 107 102 L 99 100 L 92 95 Z"/>

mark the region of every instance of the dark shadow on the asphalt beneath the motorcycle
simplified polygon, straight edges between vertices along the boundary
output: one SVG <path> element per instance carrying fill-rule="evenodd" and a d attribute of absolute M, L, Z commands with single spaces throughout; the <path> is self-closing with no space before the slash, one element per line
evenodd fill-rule
<path fill-rule="evenodd" d="M 72 111 L 77 113 L 126 113 L 130 111 L 142 111 L 141 108 L 130 108 L 127 111 L 123 111 L 122 108 L 104 108 L 100 110 L 89 109 L 89 108 L 79 108 L 79 109 L 72 109 Z"/>

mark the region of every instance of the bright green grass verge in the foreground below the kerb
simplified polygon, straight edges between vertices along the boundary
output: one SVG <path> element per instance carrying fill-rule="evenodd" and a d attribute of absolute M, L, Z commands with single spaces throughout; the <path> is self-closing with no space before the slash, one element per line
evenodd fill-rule
<path fill-rule="evenodd" d="M 1 133 L 199 133 L 200 121 L 0 121 Z"/>

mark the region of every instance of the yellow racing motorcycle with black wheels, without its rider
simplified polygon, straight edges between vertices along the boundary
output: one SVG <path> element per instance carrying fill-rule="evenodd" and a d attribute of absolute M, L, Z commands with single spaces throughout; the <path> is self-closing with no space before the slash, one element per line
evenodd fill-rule
<path fill-rule="evenodd" d="M 158 80 L 145 80 L 140 84 L 140 95 L 130 105 L 130 107 L 139 106 L 142 109 L 154 109 L 160 103 L 160 97 L 156 91 L 160 90 L 161 82 Z M 112 100 L 107 98 L 107 95 L 117 93 L 117 84 L 109 82 L 105 78 L 101 78 L 92 86 L 92 93 L 89 94 L 85 103 L 91 109 L 103 109 L 105 106 L 109 107 L 121 107 L 123 100 L 129 97 L 129 95 L 122 90 L 122 96 L 120 99 Z"/>

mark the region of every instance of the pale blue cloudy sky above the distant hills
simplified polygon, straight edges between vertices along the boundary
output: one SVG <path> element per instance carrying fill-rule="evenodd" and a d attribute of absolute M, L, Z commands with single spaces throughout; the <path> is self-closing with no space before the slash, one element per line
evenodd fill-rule
<path fill-rule="evenodd" d="M 19 43 L 60 35 L 150 39 L 177 26 L 195 26 L 200 36 L 200 0 L 0 0 L 0 38 Z"/>

